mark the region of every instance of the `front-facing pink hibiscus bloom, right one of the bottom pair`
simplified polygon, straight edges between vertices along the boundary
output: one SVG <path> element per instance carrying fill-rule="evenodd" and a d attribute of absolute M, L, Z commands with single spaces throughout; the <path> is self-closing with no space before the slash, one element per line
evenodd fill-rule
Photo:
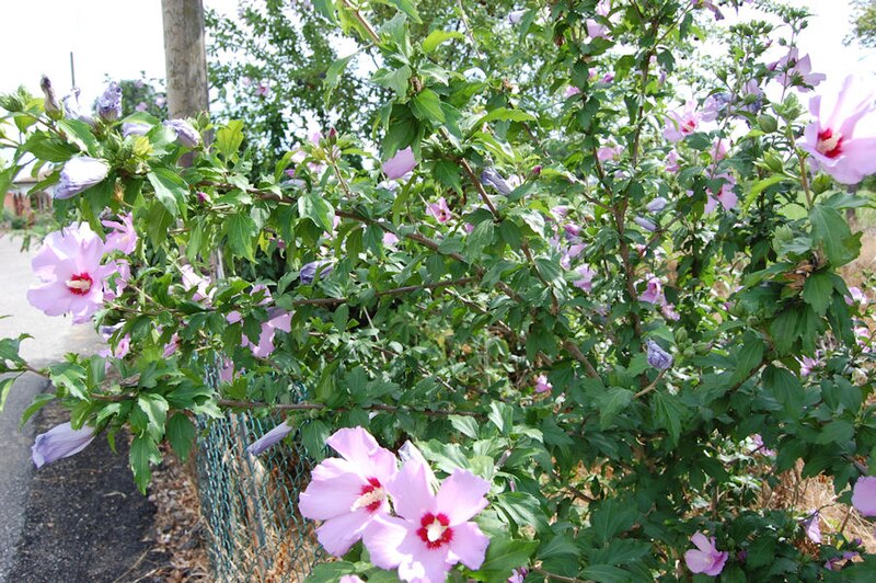
<path fill-rule="evenodd" d="M 457 469 L 433 493 L 431 470 L 411 459 L 389 484 L 397 517 L 381 516 L 364 536 L 371 562 L 403 581 L 440 582 L 461 562 L 477 570 L 489 538 L 471 521 L 486 505 L 489 482 Z"/>

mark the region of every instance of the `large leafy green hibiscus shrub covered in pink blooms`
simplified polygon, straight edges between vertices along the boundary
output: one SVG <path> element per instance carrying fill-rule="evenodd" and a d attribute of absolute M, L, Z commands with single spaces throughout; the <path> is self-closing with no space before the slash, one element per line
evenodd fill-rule
<path fill-rule="evenodd" d="M 2 98 L 0 183 L 44 171 L 61 227 L 30 299 L 111 346 L 37 370 L 56 392 L 25 416 L 71 422 L 34 459 L 127 426 L 145 490 L 195 415 L 285 415 L 240 455 L 319 461 L 322 580 L 875 578 L 844 523 L 764 495 L 795 470 L 876 515 L 867 296 L 840 273 L 874 96 L 811 71 L 804 12 L 715 23 L 737 3 L 461 2 L 423 30 L 412 2 L 314 2 L 378 67 L 328 89 L 359 67 L 391 98 L 268 173 L 242 123 L 123 116 L 117 87 L 93 115 Z M 2 371 L 34 370 L 22 340 Z"/>

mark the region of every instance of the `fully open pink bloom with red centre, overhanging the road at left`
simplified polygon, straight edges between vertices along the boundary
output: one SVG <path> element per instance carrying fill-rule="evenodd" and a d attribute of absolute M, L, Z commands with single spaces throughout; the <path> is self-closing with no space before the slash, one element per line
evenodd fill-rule
<path fill-rule="evenodd" d="M 27 301 L 47 316 L 88 321 L 103 306 L 104 283 L 114 273 L 114 265 L 101 265 L 103 254 L 103 241 L 87 222 L 49 233 L 31 262 L 39 284 L 27 292 Z"/>

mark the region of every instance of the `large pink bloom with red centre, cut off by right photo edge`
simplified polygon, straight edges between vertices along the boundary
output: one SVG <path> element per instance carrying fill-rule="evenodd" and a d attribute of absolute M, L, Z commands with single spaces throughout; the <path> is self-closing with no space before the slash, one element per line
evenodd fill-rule
<path fill-rule="evenodd" d="M 800 148 L 842 184 L 856 184 L 876 172 L 874 93 L 849 76 L 839 92 L 809 101 L 816 121 L 806 126 Z"/>

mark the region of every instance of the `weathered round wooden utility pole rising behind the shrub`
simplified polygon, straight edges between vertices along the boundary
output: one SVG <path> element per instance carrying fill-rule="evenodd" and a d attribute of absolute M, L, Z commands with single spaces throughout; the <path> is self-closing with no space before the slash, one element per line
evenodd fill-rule
<path fill-rule="evenodd" d="M 161 0 L 164 67 L 171 118 L 194 117 L 209 107 L 201 0 Z"/>

